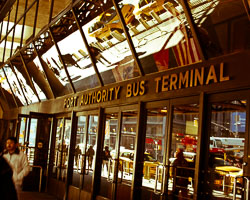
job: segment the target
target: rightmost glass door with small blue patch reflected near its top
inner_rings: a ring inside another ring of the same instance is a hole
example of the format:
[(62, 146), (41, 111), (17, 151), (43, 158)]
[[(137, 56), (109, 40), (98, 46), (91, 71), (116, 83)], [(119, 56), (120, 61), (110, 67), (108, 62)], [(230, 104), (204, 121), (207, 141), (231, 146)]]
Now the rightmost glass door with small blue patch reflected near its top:
[[(244, 95), (212, 96), (209, 103), (207, 194), (212, 199), (249, 199), (249, 109)], [(247, 170), (248, 169), (248, 170)], [(246, 197), (248, 196), (248, 197)]]

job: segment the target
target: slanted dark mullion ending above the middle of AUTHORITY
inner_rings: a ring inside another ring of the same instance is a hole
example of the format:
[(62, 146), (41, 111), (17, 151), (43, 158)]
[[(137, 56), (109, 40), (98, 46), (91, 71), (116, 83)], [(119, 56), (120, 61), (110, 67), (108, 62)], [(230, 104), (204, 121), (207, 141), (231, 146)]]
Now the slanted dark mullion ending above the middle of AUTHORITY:
[(93, 67), (94, 67), (95, 73), (96, 73), (96, 75), (97, 75), (98, 81), (99, 81), (99, 83), (100, 83), (101, 86), (104, 86), (102, 77), (101, 77), (100, 72), (99, 72), (99, 70), (98, 70), (98, 68), (97, 68), (97, 66), (96, 66), (96, 62), (95, 62), (96, 59), (94, 58), (93, 54), (92, 54), (91, 51), (90, 51), (90, 48), (89, 48), (89, 45), (88, 45), (87, 38), (85, 37), (85, 34), (84, 34), (83, 30), (82, 30), (82, 27), (80, 26), (80, 22), (79, 22), (79, 20), (78, 20), (78, 18), (77, 18), (77, 16), (76, 16), (75, 10), (74, 10), (73, 8), (72, 8), (72, 13), (73, 13), (73, 16), (74, 16), (74, 18), (75, 18), (75, 21), (76, 21), (78, 30), (80, 31), (80, 34), (81, 34), (81, 36), (82, 36), (83, 42), (84, 42), (84, 44), (85, 44), (85, 47), (86, 47), (86, 49), (87, 49), (87, 51), (88, 51), (88, 54), (89, 54), (91, 63), (92, 63), (92, 65), (93, 65)]

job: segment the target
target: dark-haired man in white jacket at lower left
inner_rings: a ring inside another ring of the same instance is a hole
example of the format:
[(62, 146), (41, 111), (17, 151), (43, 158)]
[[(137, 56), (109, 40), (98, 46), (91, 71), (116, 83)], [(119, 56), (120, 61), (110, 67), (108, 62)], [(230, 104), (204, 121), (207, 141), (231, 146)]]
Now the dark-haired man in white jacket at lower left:
[(17, 139), (9, 137), (3, 157), (13, 170), (13, 182), (17, 193), (22, 190), (23, 178), (29, 174), (30, 167), (27, 156), (18, 149)]

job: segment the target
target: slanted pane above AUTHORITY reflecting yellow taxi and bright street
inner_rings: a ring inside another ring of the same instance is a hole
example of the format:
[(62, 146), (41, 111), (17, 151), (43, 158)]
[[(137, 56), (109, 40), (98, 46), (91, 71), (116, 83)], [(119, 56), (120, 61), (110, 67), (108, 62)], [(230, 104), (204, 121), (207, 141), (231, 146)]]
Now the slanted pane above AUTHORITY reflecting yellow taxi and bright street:
[[(127, 16), (126, 23), (133, 20), (134, 6), (119, 6)], [(139, 76), (114, 7), (103, 10), (103, 13), (83, 26), (83, 31), (105, 84)]]

